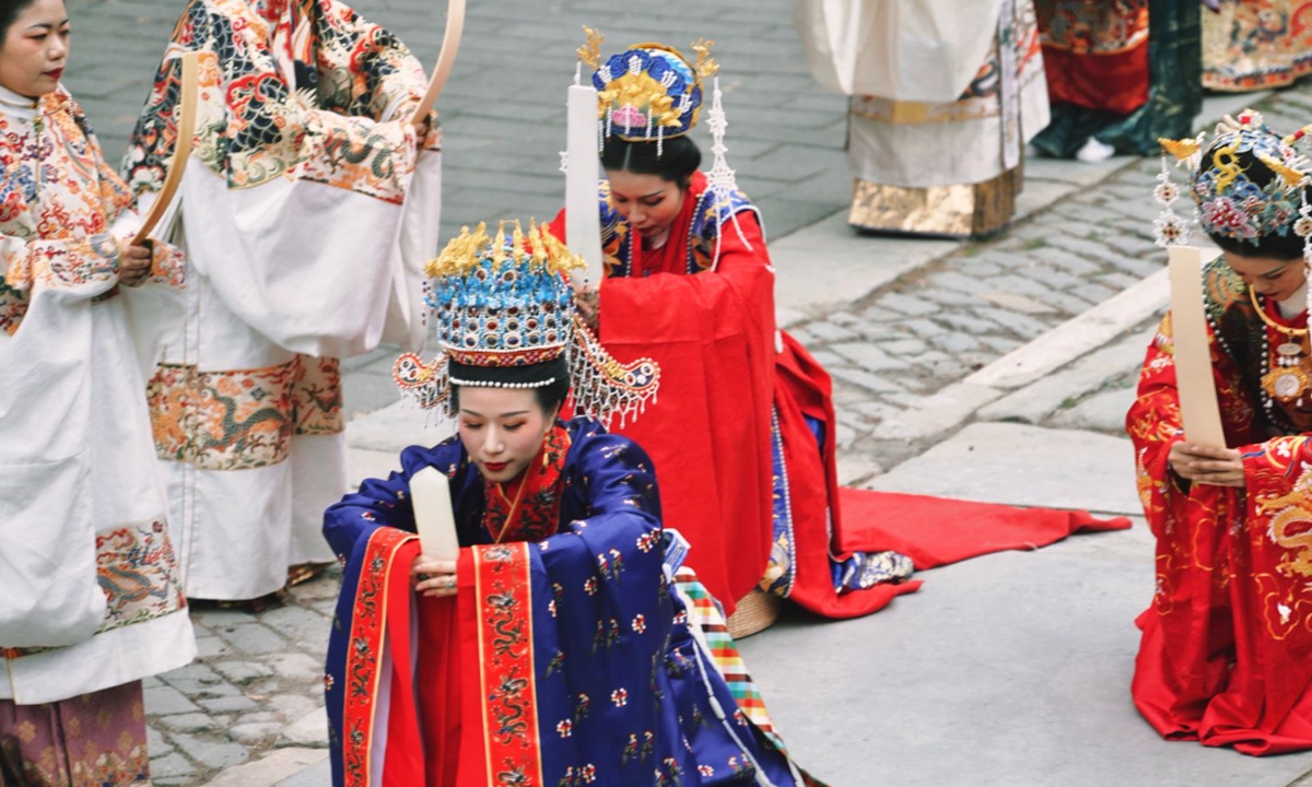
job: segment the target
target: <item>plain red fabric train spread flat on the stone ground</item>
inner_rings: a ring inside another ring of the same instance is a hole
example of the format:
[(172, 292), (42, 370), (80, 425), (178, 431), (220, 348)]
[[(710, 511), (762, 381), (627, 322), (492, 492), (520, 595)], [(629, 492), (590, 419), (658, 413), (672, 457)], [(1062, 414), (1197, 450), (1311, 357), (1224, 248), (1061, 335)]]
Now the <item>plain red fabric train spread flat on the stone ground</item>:
[(925, 494), (840, 489), (844, 550), (895, 550), (917, 571), (1006, 550), (1035, 550), (1075, 533), (1126, 530), (1130, 519), (1088, 512), (1022, 509)]

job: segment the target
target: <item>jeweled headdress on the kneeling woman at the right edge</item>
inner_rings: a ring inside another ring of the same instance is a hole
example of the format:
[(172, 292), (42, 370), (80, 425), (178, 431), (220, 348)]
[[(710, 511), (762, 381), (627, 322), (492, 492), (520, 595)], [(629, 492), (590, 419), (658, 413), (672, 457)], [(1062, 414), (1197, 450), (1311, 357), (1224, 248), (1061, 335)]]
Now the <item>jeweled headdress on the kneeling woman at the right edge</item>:
[[(1185, 243), (1193, 223), (1172, 209), (1181, 189), (1170, 178), (1170, 155), (1189, 173), (1197, 220), (1204, 232), (1254, 247), (1263, 237), (1294, 232), (1304, 239), (1304, 257), (1312, 261), (1312, 207), (1307, 202), (1312, 164), (1295, 150), (1304, 131), (1281, 138), (1266, 126), (1261, 114), (1245, 110), (1237, 119), (1227, 115), (1207, 146), (1204, 134), (1194, 139), (1160, 140), (1165, 153), (1153, 192), (1162, 205), (1161, 215), (1153, 222), (1157, 245)], [(1244, 167), (1241, 153), (1256, 164)], [(1269, 171), (1266, 177), (1254, 177), (1258, 173), (1250, 168), (1257, 165)]]

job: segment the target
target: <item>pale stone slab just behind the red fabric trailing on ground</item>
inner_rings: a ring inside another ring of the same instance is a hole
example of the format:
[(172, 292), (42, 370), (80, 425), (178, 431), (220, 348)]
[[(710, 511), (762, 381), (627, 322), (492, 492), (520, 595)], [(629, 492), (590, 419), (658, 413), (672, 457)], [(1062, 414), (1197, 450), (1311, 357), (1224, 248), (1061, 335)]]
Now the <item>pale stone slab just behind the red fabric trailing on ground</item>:
[(1128, 439), (1023, 424), (971, 424), (871, 485), (1022, 506), (1143, 510)]

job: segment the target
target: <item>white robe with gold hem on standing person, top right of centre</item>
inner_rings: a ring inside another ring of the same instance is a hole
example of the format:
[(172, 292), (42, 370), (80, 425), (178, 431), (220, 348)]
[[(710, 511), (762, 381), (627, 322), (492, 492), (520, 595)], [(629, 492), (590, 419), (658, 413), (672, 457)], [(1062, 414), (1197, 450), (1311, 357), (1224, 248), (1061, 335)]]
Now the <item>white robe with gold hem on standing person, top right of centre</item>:
[(796, 25), (816, 81), (851, 97), (853, 227), (1010, 223), (1025, 144), (1048, 125), (1033, 0), (799, 0)]

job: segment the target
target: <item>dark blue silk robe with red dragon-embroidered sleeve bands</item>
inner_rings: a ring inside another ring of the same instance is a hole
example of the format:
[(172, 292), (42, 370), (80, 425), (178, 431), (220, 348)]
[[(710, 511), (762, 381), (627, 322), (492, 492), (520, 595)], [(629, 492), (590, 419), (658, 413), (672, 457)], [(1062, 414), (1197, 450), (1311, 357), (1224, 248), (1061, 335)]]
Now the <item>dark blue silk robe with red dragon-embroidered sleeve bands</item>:
[[(589, 418), (564, 432), (559, 496), (544, 506), (558, 509), (555, 535), (542, 540), (492, 544), (484, 481), (458, 438), (407, 449), (400, 472), (325, 513), (346, 565), (325, 689), (333, 783), (804, 783), (739, 710), (689, 601), (672, 593), (647, 454)], [(471, 547), (458, 601), (411, 589), (408, 483), (429, 466), (451, 479)], [(446, 616), (425, 616), (428, 602)], [(442, 674), (425, 678), (434, 660)], [(459, 711), (432, 707), (443, 703)]]

